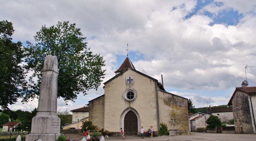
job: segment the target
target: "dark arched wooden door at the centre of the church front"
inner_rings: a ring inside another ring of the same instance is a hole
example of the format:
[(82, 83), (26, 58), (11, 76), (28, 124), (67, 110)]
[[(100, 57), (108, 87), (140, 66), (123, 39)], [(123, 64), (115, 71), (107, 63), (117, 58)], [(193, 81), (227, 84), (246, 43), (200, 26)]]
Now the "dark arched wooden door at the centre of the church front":
[(133, 111), (129, 111), (124, 117), (124, 133), (126, 135), (137, 135), (138, 119)]

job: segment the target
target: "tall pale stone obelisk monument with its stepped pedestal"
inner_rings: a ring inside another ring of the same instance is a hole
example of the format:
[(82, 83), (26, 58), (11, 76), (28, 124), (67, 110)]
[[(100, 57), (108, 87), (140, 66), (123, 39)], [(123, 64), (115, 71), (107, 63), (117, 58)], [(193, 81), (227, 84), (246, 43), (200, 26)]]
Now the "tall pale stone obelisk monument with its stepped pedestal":
[(41, 138), (53, 141), (60, 136), (60, 118), (57, 115), (58, 60), (48, 55), (43, 64), (38, 110), (32, 119), (31, 134), (26, 141)]

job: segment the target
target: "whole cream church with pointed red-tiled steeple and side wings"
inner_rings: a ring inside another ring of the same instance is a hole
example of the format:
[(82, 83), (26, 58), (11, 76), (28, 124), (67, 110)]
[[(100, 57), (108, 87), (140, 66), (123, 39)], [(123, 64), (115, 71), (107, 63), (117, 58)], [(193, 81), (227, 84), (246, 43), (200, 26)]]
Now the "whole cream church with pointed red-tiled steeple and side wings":
[(164, 90), (156, 79), (136, 71), (130, 59), (124, 60), (116, 75), (104, 83), (105, 94), (89, 101), (89, 120), (93, 125), (119, 135), (138, 135), (141, 126), (147, 131), (160, 124), (189, 134), (187, 98)]

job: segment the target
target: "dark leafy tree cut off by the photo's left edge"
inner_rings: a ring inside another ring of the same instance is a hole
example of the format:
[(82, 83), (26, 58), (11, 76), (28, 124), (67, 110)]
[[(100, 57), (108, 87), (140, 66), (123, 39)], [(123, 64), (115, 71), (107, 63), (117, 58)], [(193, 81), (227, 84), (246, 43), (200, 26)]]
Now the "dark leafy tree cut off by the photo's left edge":
[(27, 81), (21, 42), (12, 42), (12, 22), (0, 21), (0, 108), (9, 109), (25, 94)]

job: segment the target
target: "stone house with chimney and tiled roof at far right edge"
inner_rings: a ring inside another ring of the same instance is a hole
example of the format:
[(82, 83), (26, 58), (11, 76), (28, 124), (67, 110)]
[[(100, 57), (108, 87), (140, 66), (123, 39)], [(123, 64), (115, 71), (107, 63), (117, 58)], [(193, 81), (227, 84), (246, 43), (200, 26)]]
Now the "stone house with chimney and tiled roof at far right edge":
[(233, 107), (236, 133), (256, 134), (256, 87), (237, 87), (228, 105)]

